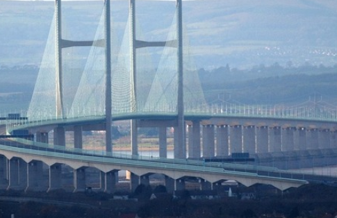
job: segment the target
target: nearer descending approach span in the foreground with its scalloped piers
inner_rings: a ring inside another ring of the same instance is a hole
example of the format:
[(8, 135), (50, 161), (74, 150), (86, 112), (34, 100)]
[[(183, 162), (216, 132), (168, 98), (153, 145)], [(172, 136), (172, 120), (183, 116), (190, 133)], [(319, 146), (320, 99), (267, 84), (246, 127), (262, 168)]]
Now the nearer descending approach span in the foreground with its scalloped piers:
[[(89, 167), (99, 170), (99, 188), (105, 192), (115, 191), (117, 172), (120, 170), (131, 172), (131, 190), (135, 190), (139, 184), (149, 185), (151, 174), (164, 176), (164, 185), (169, 192), (183, 190), (188, 178), (199, 180), (202, 190), (220, 188), (222, 182), (227, 180), (238, 181), (246, 186), (256, 183), (268, 184), (280, 190), (307, 183), (302, 179), (302, 174), (290, 175), (273, 167), (208, 163), (188, 159), (114, 156), (104, 151), (99, 154), (100, 152), (67, 149), (28, 140), (1, 141), (0, 148), (1, 187), (15, 190), (47, 191), (63, 188), (62, 165), (74, 169), (74, 192), (84, 191), (88, 186), (85, 182), (85, 169)], [(258, 171), (264, 174), (258, 174)]]

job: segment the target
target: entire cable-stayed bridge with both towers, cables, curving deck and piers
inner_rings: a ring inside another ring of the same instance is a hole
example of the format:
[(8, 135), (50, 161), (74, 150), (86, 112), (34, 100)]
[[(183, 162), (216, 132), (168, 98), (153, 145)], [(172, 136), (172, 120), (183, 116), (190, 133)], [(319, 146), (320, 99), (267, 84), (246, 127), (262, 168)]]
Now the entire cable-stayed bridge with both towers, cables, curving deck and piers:
[[(310, 156), (311, 151), (317, 153), (317, 150), (320, 154), (335, 153), (337, 112), (334, 110), (208, 105), (197, 71), (185, 61), (188, 51), (183, 47), (186, 40), (183, 40), (181, 0), (176, 0), (174, 22), (165, 42), (138, 39), (135, 0), (130, 0), (127, 34), (120, 47), (112, 44), (110, 37), (109, 0), (104, 1), (104, 16), (95, 39), (88, 42), (63, 39), (61, 8), (61, 1), (56, 0), (51, 25), (55, 31), (51, 31), (46, 46), (48, 57), (51, 53), (55, 56), (53, 60), (42, 61), (31, 106), (25, 115), (28, 120), (6, 123), (7, 133), (26, 130), (35, 135), (35, 141), (0, 141), (1, 187), (57, 189), (63, 184), (61, 177), (68, 166), (72, 169), (67, 175), (71, 174), (74, 191), (85, 190), (87, 169), (93, 168), (99, 171), (97, 187), (106, 192), (114, 191), (117, 172), (121, 170), (131, 172), (131, 190), (140, 183), (148, 185), (151, 174), (163, 175), (171, 192), (183, 189), (188, 178), (197, 179), (201, 189), (214, 189), (223, 181), (235, 180), (243, 185), (263, 183), (286, 190), (315, 179), (255, 163), (213, 163), (203, 159), (249, 153), (259, 160), (266, 156), (264, 160), (269, 161), (265, 162), (270, 162), (270, 158), (277, 159), (280, 154), (287, 158), (301, 152)], [(67, 87), (70, 83), (65, 83), (64, 76), (71, 72), (63, 70), (62, 49), (78, 46), (93, 48), (87, 63), (93, 68), (85, 67), (78, 86)], [(149, 72), (141, 72), (141, 67), (136, 65), (136, 58), (142, 57), (137, 56), (140, 48), (144, 47), (164, 50), (151, 78), (142, 75)], [(120, 53), (116, 55), (114, 49), (120, 49)], [(131, 156), (115, 156), (112, 124), (126, 119), (131, 121)], [(139, 156), (138, 130), (142, 127), (158, 128), (158, 158)], [(169, 129), (174, 129), (173, 159), (167, 159)], [(83, 131), (105, 131), (105, 150), (98, 154), (83, 149)], [(72, 142), (67, 142), (67, 132), (73, 133)], [(330, 159), (330, 164), (336, 160)]]

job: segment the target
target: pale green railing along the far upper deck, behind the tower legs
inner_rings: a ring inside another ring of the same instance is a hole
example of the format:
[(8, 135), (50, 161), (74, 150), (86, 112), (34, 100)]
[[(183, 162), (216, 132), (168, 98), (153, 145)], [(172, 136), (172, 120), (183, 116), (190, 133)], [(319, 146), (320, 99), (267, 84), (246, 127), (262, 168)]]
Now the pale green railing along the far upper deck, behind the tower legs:
[[(130, 106), (125, 106), (125, 110), (113, 110), (113, 119), (118, 117), (135, 117), (137, 115), (176, 115), (175, 103), (164, 103), (163, 105), (149, 106), (138, 103), (132, 111)], [(211, 103), (204, 102), (185, 102), (185, 115), (200, 115), (211, 117), (264, 117), (277, 119), (306, 119), (313, 121), (337, 121), (337, 107), (334, 106), (265, 106), (265, 105), (246, 105), (241, 103)], [(36, 112), (37, 117), (28, 117), (24, 120), (6, 121), (7, 129), (10, 132), (16, 128), (26, 128), (34, 125), (52, 124), (52, 122), (62, 123), (69, 121), (79, 121), (85, 119), (104, 118), (104, 111), (88, 108), (75, 110), (72, 108), (67, 111), (67, 117), (56, 117), (45, 112)], [(25, 110), (19, 110), (22, 116), (27, 116)], [(2, 112), (2, 114), (4, 114)], [(6, 114), (6, 113), (5, 113)]]

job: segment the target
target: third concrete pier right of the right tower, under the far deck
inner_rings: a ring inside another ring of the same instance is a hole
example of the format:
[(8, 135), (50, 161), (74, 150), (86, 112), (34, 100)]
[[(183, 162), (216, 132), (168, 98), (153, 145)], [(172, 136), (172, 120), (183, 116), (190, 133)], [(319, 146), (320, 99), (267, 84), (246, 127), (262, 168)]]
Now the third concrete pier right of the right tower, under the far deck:
[(228, 126), (221, 125), (217, 126), (217, 144), (216, 152), (218, 157), (229, 155), (229, 137), (228, 137)]

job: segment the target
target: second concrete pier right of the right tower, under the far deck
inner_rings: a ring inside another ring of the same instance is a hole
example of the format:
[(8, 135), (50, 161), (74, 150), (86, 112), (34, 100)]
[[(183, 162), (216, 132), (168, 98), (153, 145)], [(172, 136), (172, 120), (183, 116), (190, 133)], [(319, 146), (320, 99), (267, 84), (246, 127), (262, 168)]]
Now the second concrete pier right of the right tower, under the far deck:
[(214, 151), (214, 126), (203, 126), (202, 131), (202, 156), (204, 158), (213, 158), (215, 156)]

